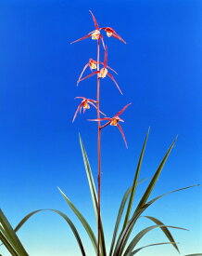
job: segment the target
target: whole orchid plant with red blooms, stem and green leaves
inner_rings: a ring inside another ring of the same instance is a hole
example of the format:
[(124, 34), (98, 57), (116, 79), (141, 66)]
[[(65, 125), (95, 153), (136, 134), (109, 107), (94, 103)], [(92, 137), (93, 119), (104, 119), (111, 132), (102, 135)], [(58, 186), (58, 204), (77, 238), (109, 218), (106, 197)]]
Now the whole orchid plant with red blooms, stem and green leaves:
[[(122, 42), (124, 44), (126, 42), (111, 27), (99, 27), (98, 22), (96, 21), (95, 16), (91, 10), (90, 10), (90, 13), (91, 13), (92, 19), (95, 24), (95, 30), (90, 32), (89, 34), (83, 36), (82, 38), (75, 40), (74, 42), (72, 42), (72, 44), (76, 43), (76, 42), (80, 42), (83, 39), (87, 39), (87, 38), (91, 38), (91, 39), (95, 40), (95, 42), (96, 42), (96, 47), (97, 47), (96, 61), (94, 59), (89, 59), (88, 63), (85, 64), (85, 66), (82, 70), (82, 74), (80, 74), (79, 79), (77, 81), (77, 86), (78, 86), (82, 80), (87, 79), (93, 75), (96, 75), (96, 100), (88, 99), (88, 98), (81, 97), (81, 96), (76, 97), (75, 99), (79, 99), (82, 102), (77, 106), (76, 112), (73, 115), (72, 122), (74, 122), (78, 113), (82, 113), (82, 111), (83, 111), (83, 114), (84, 114), (86, 110), (90, 109), (90, 106), (93, 106), (95, 108), (96, 118), (89, 119), (89, 121), (97, 122), (97, 189), (95, 186), (94, 175), (92, 173), (90, 163), (88, 160), (88, 156), (86, 154), (81, 136), (80, 136), (80, 144), (81, 144), (81, 148), (82, 148), (82, 157), (83, 157), (84, 167), (86, 170), (86, 175), (87, 175), (90, 192), (91, 192), (91, 196), (92, 196), (92, 201), (93, 201), (93, 205), (94, 205), (94, 209), (95, 209), (95, 218), (96, 218), (96, 222), (97, 222), (97, 238), (95, 236), (95, 232), (91, 228), (90, 223), (86, 221), (86, 219), (83, 217), (83, 215), (79, 211), (79, 209), (76, 208), (76, 206), (69, 200), (69, 197), (67, 195), (65, 195), (61, 189), (59, 189), (59, 192), (61, 193), (61, 195), (63, 195), (63, 197), (69, 204), (70, 209), (73, 210), (73, 212), (76, 214), (76, 216), (82, 223), (82, 226), (84, 227), (84, 229), (85, 229), (87, 235), (89, 236), (89, 239), (91, 240), (92, 245), (95, 249), (95, 255), (97, 255), (97, 256), (107, 256), (107, 255), (108, 256), (133, 256), (133, 255), (137, 254), (141, 249), (145, 249), (145, 248), (151, 247), (151, 246), (167, 245), (167, 244), (172, 245), (174, 249), (176, 249), (178, 252), (180, 252), (177, 243), (175, 242), (173, 236), (170, 234), (169, 228), (185, 230), (184, 228), (165, 225), (163, 222), (159, 221), (155, 217), (142, 215), (144, 213), (145, 209), (148, 209), (149, 206), (154, 204), (161, 197), (184, 190), (184, 189), (187, 189), (187, 188), (197, 186), (197, 185), (194, 185), (194, 186), (188, 186), (188, 187), (176, 189), (169, 193), (165, 193), (163, 195), (158, 195), (157, 197), (155, 197), (151, 200), (148, 200), (149, 196), (151, 195), (151, 193), (155, 187), (156, 182), (158, 181), (158, 177), (167, 161), (167, 158), (170, 155), (170, 152), (171, 152), (177, 138), (171, 143), (169, 150), (167, 151), (167, 153), (164, 155), (162, 161), (160, 162), (158, 169), (156, 170), (155, 174), (153, 175), (151, 181), (149, 182), (149, 184), (145, 190), (145, 193), (142, 195), (139, 203), (137, 204), (136, 209), (133, 210), (133, 199), (134, 199), (134, 195), (137, 190), (138, 184), (141, 182), (144, 182), (144, 181), (139, 181), (139, 174), (140, 174), (141, 165), (142, 165), (144, 154), (145, 154), (145, 146), (146, 146), (146, 142), (147, 142), (148, 135), (149, 135), (149, 129), (145, 136), (145, 141), (143, 143), (143, 147), (142, 147), (142, 150), (141, 150), (141, 153), (139, 156), (139, 160), (138, 160), (136, 171), (135, 171), (135, 174), (133, 177), (132, 185), (130, 188), (128, 188), (126, 190), (126, 192), (123, 195), (122, 200), (120, 202), (120, 209), (118, 211), (117, 220), (115, 222), (115, 227), (114, 227), (114, 232), (113, 232), (113, 236), (111, 239), (110, 249), (107, 252), (104, 226), (103, 226), (103, 222), (102, 222), (102, 218), (101, 218), (101, 147), (100, 147), (101, 132), (102, 132), (102, 129), (106, 128), (108, 125), (115, 126), (115, 127), (119, 128), (122, 139), (123, 139), (126, 147), (128, 147), (125, 134), (123, 132), (123, 129), (120, 126), (120, 122), (124, 122), (120, 118), (120, 115), (122, 115), (124, 113), (124, 111), (131, 105), (131, 103), (128, 103), (127, 105), (125, 105), (116, 115), (114, 115), (112, 117), (107, 117), (106, 114), (104, 114), (100, 110), (100, 86), (101, 86), (102, 78), (105, 78), (106, 76), (108, 76), (115, 83), (116, 87), (119, 89), (120, 93), (122, 94), (120, 86), (116, 82), (114, 76), (108, 72), (108, 70), (110, 70), (110, 71), (114, 72), (115, 74), (117, 74), (112, 68), (110, 68), (107, 65), (107, 46), (104, 41), (104, 35), (101, 34), (101, 32), (105, 31), (108, 37), (114, 37), (114, 38), (120, 40), (120, 42)], [(101, 42), (102, 42), (102, 45), (101, 45)], [(105, 52), (103, 62), (100, 61), (100, 52), (101, 52), (100, 47), (101, 46), (104, 47), (104, 52)], [(102, 66), (102, 67), (100, 68), (100, 66)], [(95, 70), (95, 72), (92, 72), (91, 74), (88, 74), (85, 77), (82, 77), (82, 75), (84, 74), (84, 72), (86, 71), (86, 69), (88, 67), (90, 68), (91, 71)], [(106, 117), (101, 117), (101, 115), (104, 115)], [(105, 122), (105, 123), (101, 124), (101, 122)], [(86, 251), (82, 244), (82, 238), (81, 238), (79, 232), (77, 231), (77, 228), (75, 227), (74, 223), (69, 219), (69, 217), (65, 213), (63, 213), (57, 209), (38, 209), (38, 210), (32, 211), (30, 214), (25, 216), (21, 222), (19, 222), (19, 224), (17, 225), (17, 227), (15, 229), (12, 228), (12, 226), (6, 219), (5, 214), (3, 213), (2, 210), (0, 210), (0, 240), (5, 245), (6, 249), (10, 252), (10, 254), (13, 256), (28, 256), (29, 255), (28, 252), (22, 246), (21, 242), (19, 241), (19, 237), (17, 236), (16, 233), (19, 231), (19, 228), (32, 217), (32, 215), (34, 215), (40, 211), (44, 211), (44, 210), (53, 211), (53, 212), (57, 213), (69, 224), (69, 227), (71, 228), (75, 238), (77, 239), (79, 248), (81, 250), (81, 255), (86, 256), (87, 254), (86, 254)], [(124, 212), (125, 212), (125, 215), (124, 215)], [(130, 240), (131, 234), (133, 231), (133, 227), (134, 227), (135, 223), (141, 217), (144, 217), (144, 218), (150, 220), (151, 222), (154, 222), (154, 225), (146, 227), (145, 229), (140, 231), (136, 236), (134, 236)], [(150, 245), (146, 245), (144, 247), (136, 248), (137, 243), (148, 232), (150, 232), (151, 230), (156, 229), (156, 228), (159, 228), (167, 236), (168, 242), (150, 244)], [(185, 255), (185, 256), (191, 256), (191, 255), (199, 256), (199, 255), (202, 255), (202, 253), (189, 254), (189, 255)], [(89, 255), (87, 255), (87, 256), (89, 256)]]

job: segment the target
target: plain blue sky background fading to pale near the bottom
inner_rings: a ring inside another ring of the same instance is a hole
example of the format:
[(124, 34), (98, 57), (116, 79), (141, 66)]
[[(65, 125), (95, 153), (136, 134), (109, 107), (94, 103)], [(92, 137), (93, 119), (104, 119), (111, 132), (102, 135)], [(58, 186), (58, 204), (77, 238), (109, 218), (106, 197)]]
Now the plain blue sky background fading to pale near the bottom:
[[(95, 228), (94, 211), (78, 140), (81, 132), (96, 178), (95, 110), (71, 120), (79, 100), (95, 99), (95, 77), (76, 88), (82, 67), (95, 58), (91, 39), (69, 43), (94, 30), (92, 9), (100, 26), (113, 27), (126, 41), (106, 38), (108, 64), (124, 95), (105, 79), (101, 108), (122, 115), (129, 149), (117, 128), (102, 136), (102, 215), (107, 246), (120, 199), (131, 185), (144, 141), (151, 127), (136, 200), (143, 194), (158, 163), (179, 138), (151, 197), (201, 183), (201, 61), (200, 0), (135, 1), (0, 1), (0, 206), (15, 226), (35, 209), (59, 209), (73, 218), (88, 256), (94, 251), (59, 186)], [(88, 74), (88, 72), (86, 72)], [(202, 251), (201, 188), (162, 198), (146, 211), (162, 222), (190, 229), (173, 231), (182, 254)], [(140, 220), (136, 232), (152, 224)], [(39, 213), (19, 231), (31, 256), (80, 255), (71, 231), (54, 213)], [(139, 245), (167, 241), (152, 231)], [(1, 248), (4, 256), (7, 252)], [(145, 249), (140, 256), (177, 255), (171, 246)]]

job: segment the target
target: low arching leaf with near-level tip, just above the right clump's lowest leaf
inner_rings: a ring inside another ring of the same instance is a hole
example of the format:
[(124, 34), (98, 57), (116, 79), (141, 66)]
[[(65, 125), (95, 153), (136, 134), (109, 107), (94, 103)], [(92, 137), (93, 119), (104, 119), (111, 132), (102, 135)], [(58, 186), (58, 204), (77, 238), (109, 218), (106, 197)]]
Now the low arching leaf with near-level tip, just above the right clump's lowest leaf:
[(126, 249), (125, 253), (123, 254), (123, 256), (129, 256), (131, 255), (133, 248), (137, 245), (137, 243), (143, 238), (143, 236), (145, 236), (149, 231), (155, 229), (155, 228), (161, 228), (161, 227), (170, 227), (170, 228), (176, 228), (176, 229), (182, 229), (182, 230), (186, 230), (184, 228), (181, 227), (176, 227), (176, 226), (165, 226), (165, 225), (153, 225), (153, 226), (149, 226), (146, 227), (145, 229), (143, 229), (142, 231), (140, 231), (136, 236), (134, 236), (132, 242), (129, 244), (128, 248)]

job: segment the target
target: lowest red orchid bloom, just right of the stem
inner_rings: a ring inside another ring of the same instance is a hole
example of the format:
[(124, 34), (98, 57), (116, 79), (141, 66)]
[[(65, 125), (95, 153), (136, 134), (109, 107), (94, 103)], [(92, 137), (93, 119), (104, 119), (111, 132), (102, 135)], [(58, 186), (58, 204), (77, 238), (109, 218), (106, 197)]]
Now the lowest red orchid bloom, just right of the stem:
[(97, 121), (97, 122), (100, 122), (100, 121), (107, 121), (107, 123), (102, 126), (101, 128), (105, 128), (107, 127), (108, 125), (109, 126), (114, 126), (114, 127), (118, 127), (120, 129), (120, 133), (122, 135), (122, 139), (123, 141), (125, 142), (125, 145), (126, 145), (126, 148), (128, 148), (128, 145), (127, 145), (127, 141), (126, 141), (126, 138), (125, 138), (125, 135), (124, 135), (124, 132), (122, 130), (122, 128), (120, 127), (120, 124), (119, 122), (124, 122), (121, 118), (120, 118), (120, 115), (125, 111), (125, 109), (131, 105), (132, 103), (129, 103), (128, 105), (124, 106), (124, 108), (122, 108), (120, 110), (120, 112), (118, 112), (116, 115), (114, 115), (113, 117), (104, 117), (104, 118), (98, 118), (98, 119), (89, 119), (89, 121)]

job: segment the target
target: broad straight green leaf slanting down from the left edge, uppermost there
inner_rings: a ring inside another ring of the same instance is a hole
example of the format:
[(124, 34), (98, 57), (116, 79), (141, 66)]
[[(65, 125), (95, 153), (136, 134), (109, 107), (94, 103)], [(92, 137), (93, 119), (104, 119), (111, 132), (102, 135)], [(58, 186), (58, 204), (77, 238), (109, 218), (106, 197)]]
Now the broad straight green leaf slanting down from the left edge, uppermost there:
[(7, 221), (6, 216), (4, 215), (1, 209), (0, 209), (0, 223), (5, 230), (5, 235), (9, 240), (9, 243), (17, 251), (17, 253), (20, 256), (28, 256), (27, 251), (23, 248), (21, 242), (19, 241), (19, 237), (16, 235), (11, 224)]

